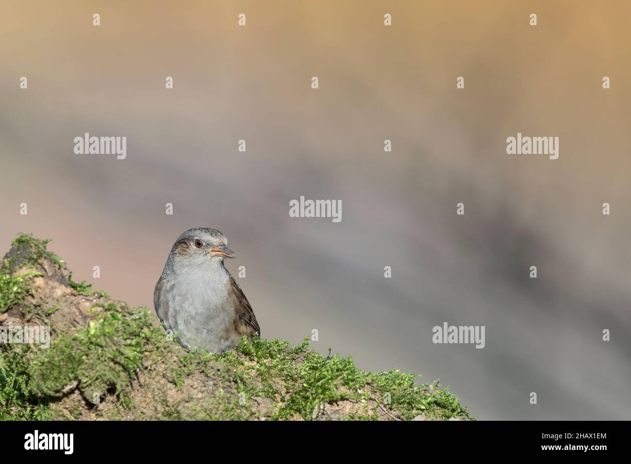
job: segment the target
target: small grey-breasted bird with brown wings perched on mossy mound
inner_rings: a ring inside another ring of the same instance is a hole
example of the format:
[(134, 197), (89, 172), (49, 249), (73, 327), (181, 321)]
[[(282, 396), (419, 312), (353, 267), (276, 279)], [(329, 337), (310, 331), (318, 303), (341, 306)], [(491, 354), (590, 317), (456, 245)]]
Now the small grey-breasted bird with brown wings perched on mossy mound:
[(219, 230), (189, 229), (177, 237), (153, 291), (156, 314), (187, 351), (232, 350), (244, 335), (261, 335), (252, 306), (224, 266), (234, 258)]

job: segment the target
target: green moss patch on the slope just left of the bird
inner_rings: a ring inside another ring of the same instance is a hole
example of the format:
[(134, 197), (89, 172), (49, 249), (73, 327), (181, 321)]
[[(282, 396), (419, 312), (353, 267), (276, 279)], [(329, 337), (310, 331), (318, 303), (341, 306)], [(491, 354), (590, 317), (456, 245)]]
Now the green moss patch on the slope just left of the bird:
[(88, 327), (72, 336), (60, 334), (49, 348), (11, 345), (0, 352), (5, 410), (54, 402), (69, 386), (76, 386), (86, 402), (98, 403), (111, 394), (123, 408), (131, 407), (127, 392), (121, 393), (145, 356), (159, 349), (163, 336), (146, 308), (110, 304), (95, 307), (94, 313)]

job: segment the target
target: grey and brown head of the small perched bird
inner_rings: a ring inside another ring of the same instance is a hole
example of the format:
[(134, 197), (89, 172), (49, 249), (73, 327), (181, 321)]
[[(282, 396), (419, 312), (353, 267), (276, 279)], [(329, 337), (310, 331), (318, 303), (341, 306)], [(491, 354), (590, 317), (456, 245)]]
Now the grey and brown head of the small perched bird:
[(198, 227), (180, 235), (171, 250), (174, 264), (213, 267), (234, 258), (228, 239), (219, 230)]

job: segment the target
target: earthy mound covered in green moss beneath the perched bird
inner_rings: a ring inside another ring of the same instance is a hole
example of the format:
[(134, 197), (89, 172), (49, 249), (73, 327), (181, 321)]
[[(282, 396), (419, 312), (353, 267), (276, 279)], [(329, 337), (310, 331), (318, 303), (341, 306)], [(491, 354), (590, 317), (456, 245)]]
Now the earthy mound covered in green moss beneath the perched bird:
[[(21, 234), (0, 267), (2, 420), (472, 419), (437, 382), (362, 372), (306, 341), (186, 353), (146, 307), (73, 282), (47, 243)], [(48, 343), (23, 343), (29, 326), (49, 327)]]

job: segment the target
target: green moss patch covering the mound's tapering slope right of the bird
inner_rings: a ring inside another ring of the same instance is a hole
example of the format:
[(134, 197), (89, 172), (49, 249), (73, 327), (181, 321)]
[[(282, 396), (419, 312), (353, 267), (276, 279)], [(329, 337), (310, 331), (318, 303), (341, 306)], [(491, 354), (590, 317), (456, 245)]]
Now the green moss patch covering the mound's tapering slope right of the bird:
[[(233, 352), (215, 355), (215, 359), (243, 370), (239, 354), (255, 361), (250, 368), (252, 381), (241, 379), (253, 395), (263, 395), (278, 402), (273, 419), (290, 419), (298, 415), (311, 419), (322, 405), (348, 400), (368, 403), (370, 400), (396, 410), (404, 419), (413, 419), (425, 412), (428, 419), (449, 419), (463, 416), (473, 419), (456, 396), (440, 384), (417, 386), (416, 375), (399, 371), (374, 374), (362, 372), (351, 357), (326, 357), (309, 350), (309, 342), (291, 348), (281, 340), (252, 342), (242, 339)], [(386, 399), (387, 398), (387, 399)], [(376, 419), (376, 411), (353, 415), (349, 419)]]

